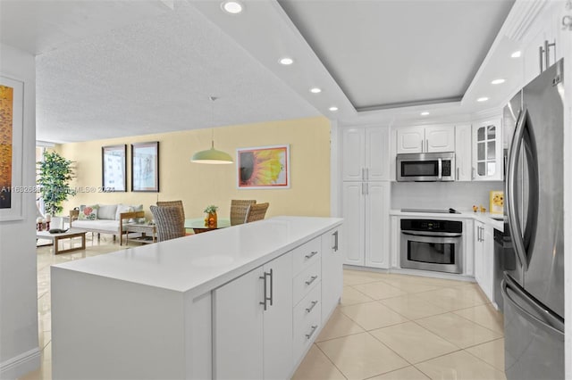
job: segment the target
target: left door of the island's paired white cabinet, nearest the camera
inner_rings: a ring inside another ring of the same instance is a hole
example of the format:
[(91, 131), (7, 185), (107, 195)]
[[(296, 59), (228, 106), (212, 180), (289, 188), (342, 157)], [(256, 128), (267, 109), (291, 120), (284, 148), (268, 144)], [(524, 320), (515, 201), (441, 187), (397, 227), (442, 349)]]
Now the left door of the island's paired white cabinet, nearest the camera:
[(264, 309), (260, 304), (264, 292), (260, 277), (264, 278), (262, 267), (213, 291), (216, 379), (264, 377)]

